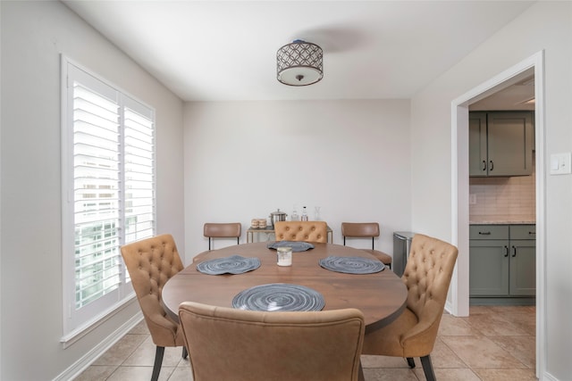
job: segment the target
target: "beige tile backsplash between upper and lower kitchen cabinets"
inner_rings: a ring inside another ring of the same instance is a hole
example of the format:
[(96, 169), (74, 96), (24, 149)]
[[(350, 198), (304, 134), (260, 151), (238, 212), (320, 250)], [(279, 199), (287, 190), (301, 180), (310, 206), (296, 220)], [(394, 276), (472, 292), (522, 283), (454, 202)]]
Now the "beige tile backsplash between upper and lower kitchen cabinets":
[(470, 219), (535, 220), (535, 177), (469, 178)]

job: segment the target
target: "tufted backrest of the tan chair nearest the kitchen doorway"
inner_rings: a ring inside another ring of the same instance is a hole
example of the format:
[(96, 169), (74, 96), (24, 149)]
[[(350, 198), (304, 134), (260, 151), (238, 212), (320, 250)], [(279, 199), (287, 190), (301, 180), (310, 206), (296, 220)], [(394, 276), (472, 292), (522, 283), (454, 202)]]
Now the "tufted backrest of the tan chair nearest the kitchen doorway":
[(427, 342), (437, 336), (457, 255), (457, 247), (430, 236), (416, 234), (411, 242), (401, 279), (408, 287), (408, 309), (418, 319), (416, 331), (425, 330)]

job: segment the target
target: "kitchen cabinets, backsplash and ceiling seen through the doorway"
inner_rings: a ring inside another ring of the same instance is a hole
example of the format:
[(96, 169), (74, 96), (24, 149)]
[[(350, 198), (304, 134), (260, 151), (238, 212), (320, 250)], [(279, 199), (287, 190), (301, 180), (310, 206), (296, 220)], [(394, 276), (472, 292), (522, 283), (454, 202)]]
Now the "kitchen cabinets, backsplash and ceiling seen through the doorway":
[(534, 70), (469, 106), (470, 305), (535, 303)]

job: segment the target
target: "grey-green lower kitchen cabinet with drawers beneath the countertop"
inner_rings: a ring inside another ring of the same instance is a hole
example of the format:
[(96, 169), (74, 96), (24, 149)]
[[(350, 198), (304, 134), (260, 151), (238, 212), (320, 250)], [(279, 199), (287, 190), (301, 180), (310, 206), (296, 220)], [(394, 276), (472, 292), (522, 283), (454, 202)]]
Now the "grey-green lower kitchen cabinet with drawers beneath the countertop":
[(469, 296), (534, 296), (535, 236), (535, 225), (471, 225)]

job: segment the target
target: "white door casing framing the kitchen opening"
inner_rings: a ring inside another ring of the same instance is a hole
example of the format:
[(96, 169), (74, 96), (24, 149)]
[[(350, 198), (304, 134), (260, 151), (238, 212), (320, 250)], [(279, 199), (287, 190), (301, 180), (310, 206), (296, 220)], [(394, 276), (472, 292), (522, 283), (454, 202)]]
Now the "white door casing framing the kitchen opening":
[[(508, 70), (485, 81), (466, 94), (451, 102), (451, 236), (457, 242), (459, 253), (466, 253), (464, 260), (457, 263), (458, 272), (451, 279), (451, 309), (457, 316), (468, 315), (468, 167), (458, 165), (464, 162), (468, 153), (468, 139), (461, 137), (467, 131), (467, 118), (459, 118), (461, 113), (468, 111), (468, 104), (492, 94), (497, 87), (506, 86), (507, 82), (518, 74), (534, 68), (535, 104), (535, 150), (536, 150), (536, 377), (549, 379), (546, 373), (547, 347), (546, 337), (546, 171), (545, 171), (545, 126), (544, 126), (544, 51), (518, 62)], [(460, 256), (459, 256), (460, 257)]]

